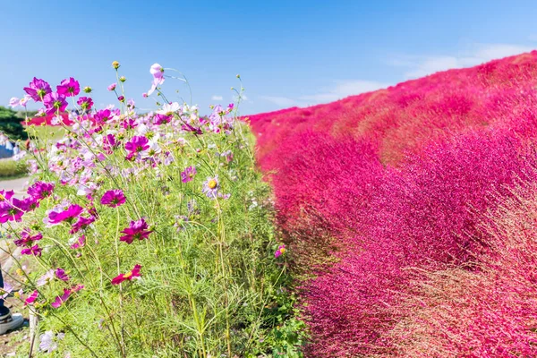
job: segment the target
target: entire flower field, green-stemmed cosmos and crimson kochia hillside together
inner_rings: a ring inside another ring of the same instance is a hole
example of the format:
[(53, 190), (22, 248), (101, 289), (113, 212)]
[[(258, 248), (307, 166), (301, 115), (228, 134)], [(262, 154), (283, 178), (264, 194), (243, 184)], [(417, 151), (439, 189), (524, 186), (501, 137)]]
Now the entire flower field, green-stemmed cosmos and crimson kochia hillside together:
[(249, 117), (242, 82), (202, 115), (159, 64), (141, 114), (113, 68), (114, 106), (12, 99), (41, 107), (0, 192), (19, 354), (537, 355), (537, 51)]

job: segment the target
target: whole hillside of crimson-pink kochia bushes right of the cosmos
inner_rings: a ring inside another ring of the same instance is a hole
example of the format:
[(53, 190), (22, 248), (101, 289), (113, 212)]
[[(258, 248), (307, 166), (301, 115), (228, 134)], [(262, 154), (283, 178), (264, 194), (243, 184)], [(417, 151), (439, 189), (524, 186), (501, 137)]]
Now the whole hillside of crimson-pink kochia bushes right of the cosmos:
[(248, 121), (308, 356), (537, 355), (537, 52)]

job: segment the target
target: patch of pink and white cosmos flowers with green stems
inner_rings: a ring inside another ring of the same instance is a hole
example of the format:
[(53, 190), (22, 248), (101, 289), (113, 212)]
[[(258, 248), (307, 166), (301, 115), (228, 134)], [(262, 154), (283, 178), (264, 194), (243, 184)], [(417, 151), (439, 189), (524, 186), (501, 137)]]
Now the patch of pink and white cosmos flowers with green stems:
[[(200, 115), (166, 99), (174, 82), (155, 64), (145, 97), (166, 104), (139, 115), (120, 67), (113, 106), (93, 107), (73, 78), (55, 88), (34, 78), (12, 99), (36, 102), (61, 128), (27, 121), (17, 155), (30, 167), (27, 194), (0, 192), (8, 251), (22, 257), (3, 297), (38, 317), (18, 354), (300, 356), (285, 245), (240, 101)], [(65, 121), (68, 108), (78, 112)]]

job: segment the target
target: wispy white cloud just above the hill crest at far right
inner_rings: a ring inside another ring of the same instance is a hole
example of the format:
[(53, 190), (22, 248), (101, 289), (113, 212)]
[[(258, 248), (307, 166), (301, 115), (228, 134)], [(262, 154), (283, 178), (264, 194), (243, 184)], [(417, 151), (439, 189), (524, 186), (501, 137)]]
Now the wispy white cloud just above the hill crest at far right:
[(401, 56), (388, 64), (407, 67), (405, 78), (418, 78), (452, 68), (471, 67), (493, 59), (532, 51), (532, 47), (509, 44), (473, 44), (460, 55)]

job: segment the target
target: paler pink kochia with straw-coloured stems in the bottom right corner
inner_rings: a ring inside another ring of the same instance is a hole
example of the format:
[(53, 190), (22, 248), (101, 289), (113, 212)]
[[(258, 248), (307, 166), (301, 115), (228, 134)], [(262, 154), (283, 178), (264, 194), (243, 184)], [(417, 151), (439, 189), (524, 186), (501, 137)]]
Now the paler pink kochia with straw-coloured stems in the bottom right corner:
[(537, 356), (537, 185), (489, 216), (479, 269), (427, 275), (389, 333), (404, 357)]

